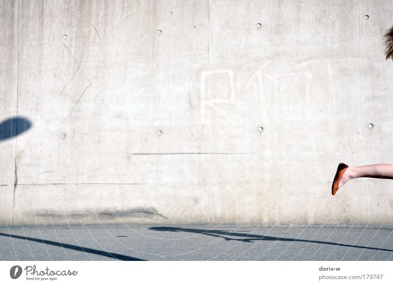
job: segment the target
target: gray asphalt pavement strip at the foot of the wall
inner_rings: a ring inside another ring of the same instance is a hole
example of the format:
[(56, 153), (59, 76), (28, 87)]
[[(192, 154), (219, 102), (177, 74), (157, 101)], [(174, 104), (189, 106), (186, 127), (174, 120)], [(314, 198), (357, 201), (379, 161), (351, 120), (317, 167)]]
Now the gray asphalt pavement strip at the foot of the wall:
[(392, 228), (0, 228), (1, 260), (393, 260)]

